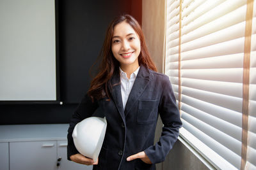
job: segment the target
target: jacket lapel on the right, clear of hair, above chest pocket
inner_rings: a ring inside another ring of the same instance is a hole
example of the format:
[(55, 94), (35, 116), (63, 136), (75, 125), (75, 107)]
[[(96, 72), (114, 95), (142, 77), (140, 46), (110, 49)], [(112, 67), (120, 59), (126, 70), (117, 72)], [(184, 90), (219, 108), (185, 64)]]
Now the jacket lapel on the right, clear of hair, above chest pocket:
[[(136, 79), (134, 81), (134, 85), (132, 86), (132, 90), (129, 94), (126, 106), (125, 106), (125, 117), (131, 110), (134, 103), (138, 100), (138, 98), (141, 96), (142, 92), (145, 90), (145, 88), (148, 85), (149, 81), (149, 71), (146, 67), (140, 66), (140, 70), (136, 76)], [(122, 98), (122, 97), (121, 97)]]

